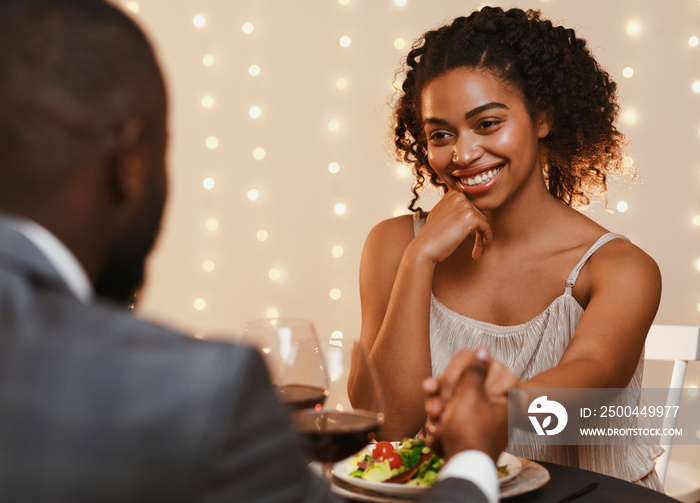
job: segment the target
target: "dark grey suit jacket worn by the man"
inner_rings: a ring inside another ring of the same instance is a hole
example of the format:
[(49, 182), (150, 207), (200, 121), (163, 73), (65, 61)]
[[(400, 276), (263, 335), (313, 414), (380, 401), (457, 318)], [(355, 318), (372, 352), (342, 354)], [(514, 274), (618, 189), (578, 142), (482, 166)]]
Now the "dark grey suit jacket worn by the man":
[(82, 304), (0, 218), (0, 501), (334, 501), (305, 465), (256, 351)]

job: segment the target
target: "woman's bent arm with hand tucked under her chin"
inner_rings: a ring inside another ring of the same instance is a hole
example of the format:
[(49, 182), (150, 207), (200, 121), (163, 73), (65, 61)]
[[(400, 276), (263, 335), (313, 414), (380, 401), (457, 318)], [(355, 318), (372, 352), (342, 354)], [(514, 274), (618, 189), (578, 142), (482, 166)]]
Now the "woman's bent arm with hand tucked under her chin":
[[(360, 342), (384, 389), (384, 438), (413, 436), (425, 421), (421, 383), (431, 375), (430, 294), (435, 265), (475, 231), (484, 236), (476, 239), (478, 258), (491, 241), (488, 221), (464, 194), (448, 192), (415, 238), (410, 216), (382, 222), (367, 237), (360, 264)], [(362, 390), (352, 372), (348, 394), (351, 402), (357, 402)]]

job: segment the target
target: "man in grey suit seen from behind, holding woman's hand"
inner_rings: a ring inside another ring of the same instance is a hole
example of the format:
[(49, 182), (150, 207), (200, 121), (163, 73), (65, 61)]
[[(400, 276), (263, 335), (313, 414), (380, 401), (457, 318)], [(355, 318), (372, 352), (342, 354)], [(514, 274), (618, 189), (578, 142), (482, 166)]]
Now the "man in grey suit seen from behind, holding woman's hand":
[[(0, 500), (334, 501), (257, 352), (126, 309), (166, 198), (166, 118), (153, 50), (117, 8), (0, 2)], [(488, 362), (465, 362), (441, 431), (493, 458), (505, 440), (450, 429), (485, 402)], [(438, 491), (493, 501), (481, 456), (484, 489)]]

